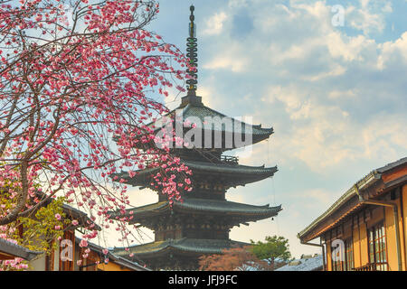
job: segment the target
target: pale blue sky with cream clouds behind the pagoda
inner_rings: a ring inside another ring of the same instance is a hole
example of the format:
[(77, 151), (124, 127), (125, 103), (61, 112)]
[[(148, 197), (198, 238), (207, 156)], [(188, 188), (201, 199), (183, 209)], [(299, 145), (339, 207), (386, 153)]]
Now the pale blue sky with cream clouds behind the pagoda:
[[(240, 163), (279, 172), (226, 198), (283, 210), (230, 237), (279, 235), (293, 256), (321, 253), (298, 232), (365, 174), (407, 155), (407, 1), (164, 0), (148, 29), (185, 51), (191, 4), (204, 105), (275, 131)], [(157, 200), (130, 194), (134, 205)]]

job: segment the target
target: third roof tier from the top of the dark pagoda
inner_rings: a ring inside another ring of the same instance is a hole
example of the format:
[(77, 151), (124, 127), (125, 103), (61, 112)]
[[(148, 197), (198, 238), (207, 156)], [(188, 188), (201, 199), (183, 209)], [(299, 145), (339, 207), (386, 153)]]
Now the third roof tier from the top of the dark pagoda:
[[(264, 206), (253, 206), (228, 200), (195, 198), (183, 198), (182, 202), (175, 201), (172, 209), (175, 212), (188, 212), (191, 210), (194, 211), (194, 213), (202, 214), (211, 213), (220, 214), (222, 216), (240, 216), (246, 219), (246, 221), (274, 217), (280, 210), (282, 210), (281, 205), (276, 207), (270, 207), (269, 204)], [(147, 206), (128, 209), (126, 210), (125, 215), (122, 215), (119, 212), (113, 212), (110, 214), (110, 219), (133, 216), (133, 219), (130, 221), (130, 224), (132, 224), (145, 218), (162, 215), (170, 210), (171, 207), (169, 201), (160, 201)]]

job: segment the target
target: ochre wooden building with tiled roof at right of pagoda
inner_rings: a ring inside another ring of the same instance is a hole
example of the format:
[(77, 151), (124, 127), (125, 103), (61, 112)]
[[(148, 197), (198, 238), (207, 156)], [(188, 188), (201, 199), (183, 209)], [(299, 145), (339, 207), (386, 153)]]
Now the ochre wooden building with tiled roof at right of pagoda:
[(406, 214), (407, 157), (364, 176), (298, 238), (322, 247), (328, 271), (405, 271)]

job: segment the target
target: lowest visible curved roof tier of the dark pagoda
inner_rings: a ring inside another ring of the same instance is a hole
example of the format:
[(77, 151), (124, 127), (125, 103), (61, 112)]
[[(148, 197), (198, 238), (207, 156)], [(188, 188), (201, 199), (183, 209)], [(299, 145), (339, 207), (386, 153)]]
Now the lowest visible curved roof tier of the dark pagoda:
[(202, 254), (221, 254), (222, 250), (231, 247), (248, 246), (250, 244), (224, 240), (224, 239), (197, 239), (197, 238), (180, 238), (166, 239), (165, 241), (155, 241), (143, 245), (129, 247), (126, 251), (124, 247), (115, 247), (113, 252), (118, 256), (129, 257), (133, 253), (136, 256), (157, 256), (158, 253), (168, 253), (177, 251), (179, 253)]

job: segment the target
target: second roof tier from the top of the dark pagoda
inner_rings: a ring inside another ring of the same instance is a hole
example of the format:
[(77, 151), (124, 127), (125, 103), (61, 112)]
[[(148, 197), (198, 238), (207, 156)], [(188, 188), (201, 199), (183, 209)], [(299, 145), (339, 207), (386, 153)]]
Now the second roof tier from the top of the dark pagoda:
[[(200, 175), (222, 173), (222, 176), (225, 177), (232, 176), (237, 180), (237, 184), (257, 182), (274, 175), (274, 173), (278, 171), (277, 166), (248, 166), (226, 162), (214, 163), (186, 160), (182, 160), (182, 163), (185, 163), (185, 165), (191, 169), (193, 173), (199, 172)], [(151, 182), (152, 176), (158, 172), (159, 169), (160, 168), (155, 167), (138, 170), (133, 178), (128, 175), (128, 172), (119, 172), (114, 176), (118, 176), (119, 178), (126, 180), (126, 182), (132, 184), (133, 186), (146, 186)]]

